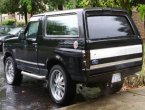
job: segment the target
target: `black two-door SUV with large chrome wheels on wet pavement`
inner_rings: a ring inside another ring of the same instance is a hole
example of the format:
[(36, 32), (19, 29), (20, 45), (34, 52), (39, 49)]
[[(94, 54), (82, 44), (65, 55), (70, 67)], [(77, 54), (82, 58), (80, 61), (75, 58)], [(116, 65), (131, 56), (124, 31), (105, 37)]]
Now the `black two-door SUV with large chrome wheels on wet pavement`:
[(8, 84), (23, 75), (47, 81), (57, 104), (70, 103), (76, 84), (115, 93), (142, 67), (142, 40), (120, 9), (75, 9), (34, 15), (18, 38), (4, 43)]

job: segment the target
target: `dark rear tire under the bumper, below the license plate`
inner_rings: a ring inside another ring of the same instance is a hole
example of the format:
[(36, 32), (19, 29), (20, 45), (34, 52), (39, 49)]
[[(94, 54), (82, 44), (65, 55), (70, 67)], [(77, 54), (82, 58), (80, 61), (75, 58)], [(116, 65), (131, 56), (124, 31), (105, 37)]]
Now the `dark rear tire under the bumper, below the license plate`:
[(103, 83), (101, 84), (100, 88), (101, 88), (101, 95), (105, 95), (108, 96), (110, 94), (114, 94), (118, 91), (121, 90), (122, 86), (123, 86), (123, 82), (117, 82), (117, 83)]

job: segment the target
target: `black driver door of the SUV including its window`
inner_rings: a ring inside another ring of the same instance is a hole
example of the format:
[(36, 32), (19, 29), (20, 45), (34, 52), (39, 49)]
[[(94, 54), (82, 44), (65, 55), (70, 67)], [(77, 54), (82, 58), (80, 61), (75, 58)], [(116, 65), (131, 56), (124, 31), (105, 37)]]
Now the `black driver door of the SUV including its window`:
[(37, 36), (39, 30), (39, 18), (31, 18), (34, 20), (30, 20), (24, 33), (26, 40), (21, 41), (21, 48), (17, 50), (17, 53), (19, 53), (19, 58), (17, 61), (21, 63), (22, 70), (36, 74), (39, 73), (39, 68), (37, 65)]

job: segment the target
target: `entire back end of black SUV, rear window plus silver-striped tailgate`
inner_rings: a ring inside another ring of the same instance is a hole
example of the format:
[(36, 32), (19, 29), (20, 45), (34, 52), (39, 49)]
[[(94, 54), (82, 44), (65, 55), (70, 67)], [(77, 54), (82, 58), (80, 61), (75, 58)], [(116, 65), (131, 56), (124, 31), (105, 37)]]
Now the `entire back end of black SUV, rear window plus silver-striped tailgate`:
[(142, 40), (127, 13), (86, 12), (90, 75), (142, 65)]

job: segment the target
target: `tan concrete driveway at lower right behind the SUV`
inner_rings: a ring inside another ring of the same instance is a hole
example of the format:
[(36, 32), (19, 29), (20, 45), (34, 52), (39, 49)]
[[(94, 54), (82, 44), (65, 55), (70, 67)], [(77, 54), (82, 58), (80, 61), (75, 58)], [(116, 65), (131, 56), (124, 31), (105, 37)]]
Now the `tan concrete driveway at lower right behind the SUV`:
[(70, 105), (59, 110), (145, 110), (145, 87)]

